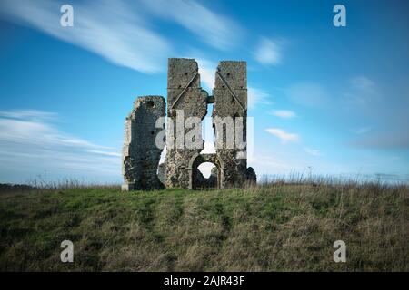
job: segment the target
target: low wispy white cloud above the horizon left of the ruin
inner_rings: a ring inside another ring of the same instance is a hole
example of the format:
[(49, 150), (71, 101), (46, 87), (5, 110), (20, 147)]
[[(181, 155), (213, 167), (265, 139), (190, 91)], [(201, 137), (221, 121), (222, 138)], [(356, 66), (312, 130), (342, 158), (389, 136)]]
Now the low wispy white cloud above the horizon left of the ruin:
[(47, 111), (1, 111), (0, 171), (7, 179), (2, 181), (30, 179), (45, 171), (58, 172), (60, 177), (119, 178), (119, 150), (59, 130), (53, 123), (56, 117)]

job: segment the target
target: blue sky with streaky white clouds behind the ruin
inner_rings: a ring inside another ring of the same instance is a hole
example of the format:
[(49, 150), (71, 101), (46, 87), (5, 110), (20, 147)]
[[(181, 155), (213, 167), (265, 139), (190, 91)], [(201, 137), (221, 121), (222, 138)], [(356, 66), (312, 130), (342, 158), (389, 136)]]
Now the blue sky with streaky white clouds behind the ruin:
[[(60, 7), (74, 7), (62, 27)], [(333, 7), (346, 7), (346, 27)], [(136, 96), (166, 96), (168, 57), (248, 66), (258, 174), (409, 179), (406, 1), (0, 3), (0, 182), (121, 181)]]

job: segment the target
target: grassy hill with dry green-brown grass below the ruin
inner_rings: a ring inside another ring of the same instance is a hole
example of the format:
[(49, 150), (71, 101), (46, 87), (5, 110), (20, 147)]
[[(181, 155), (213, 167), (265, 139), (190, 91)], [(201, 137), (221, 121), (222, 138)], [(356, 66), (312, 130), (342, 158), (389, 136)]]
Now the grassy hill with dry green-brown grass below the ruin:
[(1, 271), (408, 271), (408, 237), (406, 186), (0, 193)]

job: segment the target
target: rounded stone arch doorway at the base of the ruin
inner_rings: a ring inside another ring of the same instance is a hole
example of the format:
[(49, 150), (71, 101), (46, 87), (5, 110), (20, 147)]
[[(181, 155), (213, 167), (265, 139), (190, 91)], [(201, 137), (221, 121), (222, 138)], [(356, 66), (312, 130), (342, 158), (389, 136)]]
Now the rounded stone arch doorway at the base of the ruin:
[(202, 163), (210, 162), (213, 163), (217, 169), (217, 189), (224, 188), (224, 163), (216, 154), (200, 154), (195, 153), (194, 156), (189, 160), (188, 172), (189, 172), (189, 189), (196, 189), (197, 184), (195, 183), (197, 171), (199, 171), (198, 166)]

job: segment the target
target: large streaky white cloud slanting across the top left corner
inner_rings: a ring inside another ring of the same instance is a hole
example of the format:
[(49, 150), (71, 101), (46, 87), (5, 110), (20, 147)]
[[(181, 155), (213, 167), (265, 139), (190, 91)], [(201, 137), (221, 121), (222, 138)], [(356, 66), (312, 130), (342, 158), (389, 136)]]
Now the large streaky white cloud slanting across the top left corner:
[(0, 16), (34, 26), (139, 72), (155, 73), (164, 69), (170, 44), (147, 28), (143, 16), (138, 14), (140, 9), (120, 0), (75, 3), (74, 27), (62, 27), (60, 6), (63, 4), (48, 0), (3, 0)]

